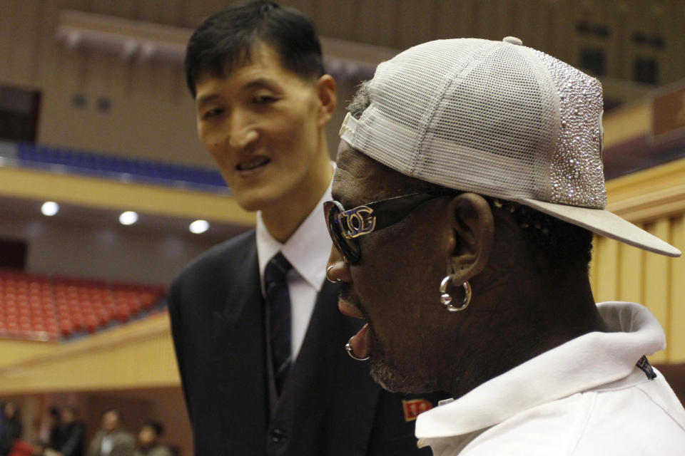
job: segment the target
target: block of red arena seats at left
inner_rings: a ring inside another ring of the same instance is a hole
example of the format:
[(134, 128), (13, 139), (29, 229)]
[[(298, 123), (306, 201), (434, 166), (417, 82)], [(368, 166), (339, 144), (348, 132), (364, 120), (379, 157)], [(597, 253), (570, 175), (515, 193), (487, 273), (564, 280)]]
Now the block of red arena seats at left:
[(163, 309), (162, 286), (0, 269), (0, 337), (64, 340)]

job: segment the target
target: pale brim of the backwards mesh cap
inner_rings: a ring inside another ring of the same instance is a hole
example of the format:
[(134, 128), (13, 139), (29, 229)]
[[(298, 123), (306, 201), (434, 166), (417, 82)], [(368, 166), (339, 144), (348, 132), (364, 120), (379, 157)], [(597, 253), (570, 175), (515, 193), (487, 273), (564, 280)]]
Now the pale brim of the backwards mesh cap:
[(533, 207), (545, 214), (562, 219), (579, 227), (602, 234), (602, 236), (617, 239), (640, 249), (649, 250), (667, 257), (680, 257), (681, 252), (671, 244), (662, 241), (653, 234), (649, 234), (631, 222), (622, 219), (617, 214), (604, 209), (589, 209), (587, 207), (568, 206), (538, 201), (537, 199), (522, 198), (518, 202)]

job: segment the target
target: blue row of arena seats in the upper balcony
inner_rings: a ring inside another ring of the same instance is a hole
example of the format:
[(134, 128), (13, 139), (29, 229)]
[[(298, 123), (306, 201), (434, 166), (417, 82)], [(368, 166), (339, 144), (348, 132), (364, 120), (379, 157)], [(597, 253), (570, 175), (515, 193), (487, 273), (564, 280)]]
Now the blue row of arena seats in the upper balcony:
[(108, 177), (161, 185), (201, 187), (206, 190), (227, 190), (219, 172), (202, 167), (191, 167), (153, 160), (139, 160), (98, 152), (69, 150), (60, 147), (36, 145), (29, 142), (16, 144), (16, 154), (6, 150), (4, 155), (14, 155), (23, 166), (43, 167), (54, 170), (62, 167), (66, 172), (76, 172), (98, 177)]

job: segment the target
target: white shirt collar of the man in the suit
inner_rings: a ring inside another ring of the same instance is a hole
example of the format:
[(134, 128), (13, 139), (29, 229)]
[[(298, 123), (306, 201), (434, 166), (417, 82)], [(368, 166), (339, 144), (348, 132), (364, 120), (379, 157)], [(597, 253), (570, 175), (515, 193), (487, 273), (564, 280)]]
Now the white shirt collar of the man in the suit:
[[(335, 171), (335, 162), (331, 162), (331, 164), (333, 171)], [(333, 180), (328, 184), (328, 188), (313, 211), (283, 244), (271, 236), (262, 219), (262, 213), (257, 212), (257, 257), (262, 293), (264, 293), (264, 270), (270, 259), (278, 252), (283, 252), (285, 259), (290, 261), (293, 269), (298, 271), (298, 274), (310, 286), (317, 292), (321, 291), (331, 247), (328, 229), (323, 220), (323, 203), (333, 199), (330, 193), (332, 184)]]

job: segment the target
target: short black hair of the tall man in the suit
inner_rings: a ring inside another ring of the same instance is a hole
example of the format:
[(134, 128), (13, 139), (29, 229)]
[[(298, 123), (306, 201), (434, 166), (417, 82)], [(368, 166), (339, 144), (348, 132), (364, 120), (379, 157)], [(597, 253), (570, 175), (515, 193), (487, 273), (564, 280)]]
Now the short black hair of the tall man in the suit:
[(273, 1), (250, 1), (210, 16), (193, 32), (186, 49), (186, 83), (193, 97), (201, 73), (223, 78), (233, 65), (250, 61), (250, 51), (265, 43), (280, 63), (302, 78), (325, 73), (321, 45), (312, 21)]

